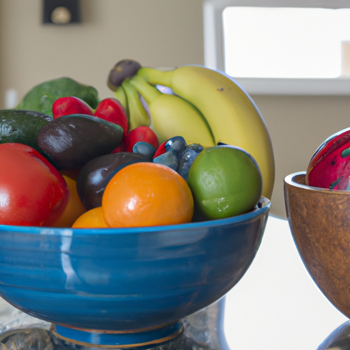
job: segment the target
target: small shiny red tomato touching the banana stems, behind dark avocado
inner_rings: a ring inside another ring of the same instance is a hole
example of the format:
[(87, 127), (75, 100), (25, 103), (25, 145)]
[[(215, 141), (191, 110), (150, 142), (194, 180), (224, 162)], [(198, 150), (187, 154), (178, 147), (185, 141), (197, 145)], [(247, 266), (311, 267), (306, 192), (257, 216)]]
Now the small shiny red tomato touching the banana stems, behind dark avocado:
[(122, 106), (122, 103), (120, 103), (120, 101), (116, 98), (109, 97), (100, 101), (96, 110), (94, 111), (94, 116), (107, 120), (107, 122), (122, 126), (124, 130), (124, 136), (128, 134), (128, 117), (126, 116), (126, 112)]

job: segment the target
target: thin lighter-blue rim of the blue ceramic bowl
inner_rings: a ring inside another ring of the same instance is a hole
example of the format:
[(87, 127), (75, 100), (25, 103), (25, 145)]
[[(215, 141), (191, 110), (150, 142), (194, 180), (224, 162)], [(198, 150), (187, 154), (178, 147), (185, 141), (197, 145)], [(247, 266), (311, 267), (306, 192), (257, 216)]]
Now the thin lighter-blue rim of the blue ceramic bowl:
[(58, 236), (85, 236), (89, 235), (108, 235), (108, 234), (138, 234), (147, 232), (161, 232), (161, 231), (177, 231), (177, 230), (191, 230), (198, 228), (211, 228), (213, 226), (223, 226), (227, 224), (239, 224), (243, 221), (251, 221), (265, 215), (269, 212), (271, 200), (262, 196), (258, 205), (250, 212), (233, 217), (226, 217), (225, 219), (215, 219), (208, 221), (189, 222), (186, 224), (173, 224), (163, 226), (139, 226), (128, 228), (64, 228), (64, 227), (49, 227), (49, 226), (15, 226), (15, 225), (1, 225), (0, 232), (16, 232), (25, 234), (47, 234)]

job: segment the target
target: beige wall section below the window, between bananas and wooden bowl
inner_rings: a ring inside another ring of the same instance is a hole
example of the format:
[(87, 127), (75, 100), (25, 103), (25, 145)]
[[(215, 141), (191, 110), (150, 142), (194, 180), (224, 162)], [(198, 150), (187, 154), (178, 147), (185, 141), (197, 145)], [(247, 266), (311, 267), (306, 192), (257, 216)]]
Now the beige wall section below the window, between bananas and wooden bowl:
[(306, 171), (323, 141), (350, 126), (350, 96), (252, 96), (273, 143), (276, 179), (271, 214), (286, 217), (283, 179)]

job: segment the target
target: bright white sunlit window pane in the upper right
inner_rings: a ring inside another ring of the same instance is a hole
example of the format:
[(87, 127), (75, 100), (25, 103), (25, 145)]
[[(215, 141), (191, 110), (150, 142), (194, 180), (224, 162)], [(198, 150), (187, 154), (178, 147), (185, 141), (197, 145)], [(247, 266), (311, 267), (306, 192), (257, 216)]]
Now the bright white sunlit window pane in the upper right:
[(223, 23), (232, 77), (334, 78), (344, 71), (350, 9), (229, 7)]

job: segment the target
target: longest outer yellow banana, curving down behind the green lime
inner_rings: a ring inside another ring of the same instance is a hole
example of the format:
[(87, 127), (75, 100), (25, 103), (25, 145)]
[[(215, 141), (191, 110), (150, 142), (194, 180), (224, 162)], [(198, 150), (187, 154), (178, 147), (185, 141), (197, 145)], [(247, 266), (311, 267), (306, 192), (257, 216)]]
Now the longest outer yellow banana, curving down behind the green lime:
[(262, 173), (262, 195), (271, 199), (275, 180), (271, 139), (254, 101), (232, 78), (198, 65), (167, 71), (142, 67), (137, 75), (152, 85), (170, 87), (174, 94), (195, 105), (211, 126), (215, 142), (252, 154)]

